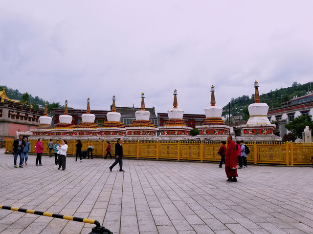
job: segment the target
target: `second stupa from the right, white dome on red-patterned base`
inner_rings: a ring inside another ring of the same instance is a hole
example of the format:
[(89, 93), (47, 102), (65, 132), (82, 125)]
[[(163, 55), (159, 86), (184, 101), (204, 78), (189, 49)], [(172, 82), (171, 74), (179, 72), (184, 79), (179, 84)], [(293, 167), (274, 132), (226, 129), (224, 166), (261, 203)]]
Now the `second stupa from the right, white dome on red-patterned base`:
[(223, 109), (215, 105), (214, 86), (211, 86), (211, 106), (204, 109), (205, 119), (202, 126), (196, 126), (199, 129), (200, 139), (206, 140), (226, 140), (230, 134), (230, 127), (224, 124), (222, 120)]

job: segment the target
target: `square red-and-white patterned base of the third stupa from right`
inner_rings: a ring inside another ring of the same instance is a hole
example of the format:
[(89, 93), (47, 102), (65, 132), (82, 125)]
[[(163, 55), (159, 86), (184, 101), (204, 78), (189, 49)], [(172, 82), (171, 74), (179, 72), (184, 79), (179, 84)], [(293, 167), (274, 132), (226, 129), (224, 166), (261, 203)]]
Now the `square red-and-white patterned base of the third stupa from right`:
[(158, 138), (162, 140), (188, 140), (192, 137), (190, 136), (190, 131), (192, 128), (186, 126), (165, 126), (159, 127), (160, 135)]

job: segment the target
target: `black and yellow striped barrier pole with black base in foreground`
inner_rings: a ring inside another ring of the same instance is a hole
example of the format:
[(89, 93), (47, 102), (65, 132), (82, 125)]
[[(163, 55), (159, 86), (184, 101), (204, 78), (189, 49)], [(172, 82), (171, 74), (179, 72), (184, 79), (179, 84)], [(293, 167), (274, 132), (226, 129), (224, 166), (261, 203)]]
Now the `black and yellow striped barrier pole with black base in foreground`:
[(53, 217), (53, 218), (62, 218), (62, 219), (67, 219), (67, 220), (72, 220), (72, 221), (77, 221), (77, 222), (83, 222), (83, 223), (90, 223), (96, 226), (92, 228), (91, 233), (89, 234), (99, 234), (99, 233), (100, 234), (113, 234), (109, 229), (106, 229), (105, 227), (101, 226), (99, 221), (94, 220), (94, 219), (80, 218), (80, 217), (74, 217), (74, 216), (69, 216), (69, 215), (53, 214), (53, 213), (48, 213), (48, 212), (43, 212), (43, 211), (34, 211), (34, 210), (28, 210), (28, 209), (12, 207), (12, 206), (3, 206), (3, 205), (0, 205), (0, 209), (18, 211), (18, 212), (34, 214), (34, 215), (43, 215), (43, 216), (48, 216), (48, 217)]

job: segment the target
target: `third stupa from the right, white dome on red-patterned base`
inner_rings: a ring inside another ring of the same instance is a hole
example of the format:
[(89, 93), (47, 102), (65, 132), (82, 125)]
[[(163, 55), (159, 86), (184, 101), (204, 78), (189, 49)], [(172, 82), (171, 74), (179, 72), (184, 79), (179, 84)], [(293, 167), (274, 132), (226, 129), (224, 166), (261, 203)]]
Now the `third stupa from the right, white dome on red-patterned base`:
[(168, 110), (168, 120), (165, 122), (164, 127), (159, 127), (160, 139), (190, 139), (189, 135), (192, 128), (186, 126), (183, 120), (183, 110), (178, 108), (177, 90), (174, 90), (174, 103), (173, 108)]

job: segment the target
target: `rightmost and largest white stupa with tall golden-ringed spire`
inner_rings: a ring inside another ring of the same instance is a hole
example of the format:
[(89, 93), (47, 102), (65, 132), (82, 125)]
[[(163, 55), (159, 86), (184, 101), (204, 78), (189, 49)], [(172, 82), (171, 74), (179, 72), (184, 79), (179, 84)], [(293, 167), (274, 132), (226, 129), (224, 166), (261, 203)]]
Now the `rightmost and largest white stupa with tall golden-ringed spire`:
[(268, 120), (268, 104), (260, 102), (258, 81), (254, 81), (254, 103), (248, 106), (249, 119), (246, 124), (240, 125), (241, 135), (237, 140), (271, 141), (281, 140), (273, 134), (276, 127)]

